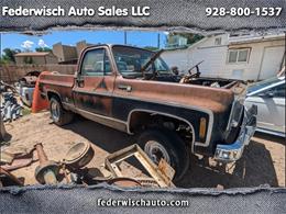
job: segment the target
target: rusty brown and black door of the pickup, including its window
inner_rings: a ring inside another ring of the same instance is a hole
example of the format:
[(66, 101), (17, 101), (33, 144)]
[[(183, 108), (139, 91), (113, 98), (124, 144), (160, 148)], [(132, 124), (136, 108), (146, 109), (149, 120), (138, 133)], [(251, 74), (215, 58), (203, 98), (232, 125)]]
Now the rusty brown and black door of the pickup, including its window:
[(106, 47), (87, 49), (74, 88), (75, 105), (84, 114), (111, 115), (114, 75)]

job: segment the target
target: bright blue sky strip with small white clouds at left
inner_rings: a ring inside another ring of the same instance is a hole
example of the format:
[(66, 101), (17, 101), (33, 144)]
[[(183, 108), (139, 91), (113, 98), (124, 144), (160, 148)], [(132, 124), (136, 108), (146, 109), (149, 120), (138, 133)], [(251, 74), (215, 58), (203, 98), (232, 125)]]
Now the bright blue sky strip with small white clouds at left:
[[(157, 35), (161, 37), (161, 47), (165, 46), (166, 34), (164, 32), (146, 32), (146, 31), (127, 31), (127, 41), (129, 45), (157, 46)], [(29, 47), (34, 50), (38, 46), (51, 47), (53, 44), (62, 42), (65, 45), (75, 45), (79, 41), (87, 41), (87, 43), (109, 43), (109, 44), (124, 44), (123, 31), (51, 31), (47, 34), (23, 35), (18, 33), (2, 33), (1, 50), (9, 48), (19, 48), (24, 50)]]

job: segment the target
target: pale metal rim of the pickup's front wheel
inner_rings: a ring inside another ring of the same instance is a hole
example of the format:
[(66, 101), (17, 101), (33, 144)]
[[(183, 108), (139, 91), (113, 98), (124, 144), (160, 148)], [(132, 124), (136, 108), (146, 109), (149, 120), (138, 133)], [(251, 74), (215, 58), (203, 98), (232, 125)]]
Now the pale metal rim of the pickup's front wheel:
[(164, 158), (168, 164), (170, 164), (166, 148), (158, 142), (148, 140), (144, 146), (144, 151), (156, 165), (158, 165), (161, 158)]

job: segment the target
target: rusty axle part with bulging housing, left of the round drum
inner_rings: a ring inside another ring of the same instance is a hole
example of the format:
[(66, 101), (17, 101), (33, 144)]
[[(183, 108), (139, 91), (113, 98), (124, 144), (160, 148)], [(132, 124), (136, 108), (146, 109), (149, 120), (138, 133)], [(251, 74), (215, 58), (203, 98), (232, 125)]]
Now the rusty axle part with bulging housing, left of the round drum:
[(35, 149), (40, 160), (40, 165), (35, 169), (35, 179), (42, 184), (56, 184), (59, 172), (58, 164), (47, 159), (41, 143), (35, 145)]

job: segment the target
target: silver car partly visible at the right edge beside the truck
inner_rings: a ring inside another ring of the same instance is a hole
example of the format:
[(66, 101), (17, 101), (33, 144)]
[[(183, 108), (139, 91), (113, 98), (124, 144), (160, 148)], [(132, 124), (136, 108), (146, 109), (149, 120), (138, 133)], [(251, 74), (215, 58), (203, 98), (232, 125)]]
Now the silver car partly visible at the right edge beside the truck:
[(249, 87), (245, 105), (257, 105), (256, 131), (285, 135), (285, 76), (274, 77)]

